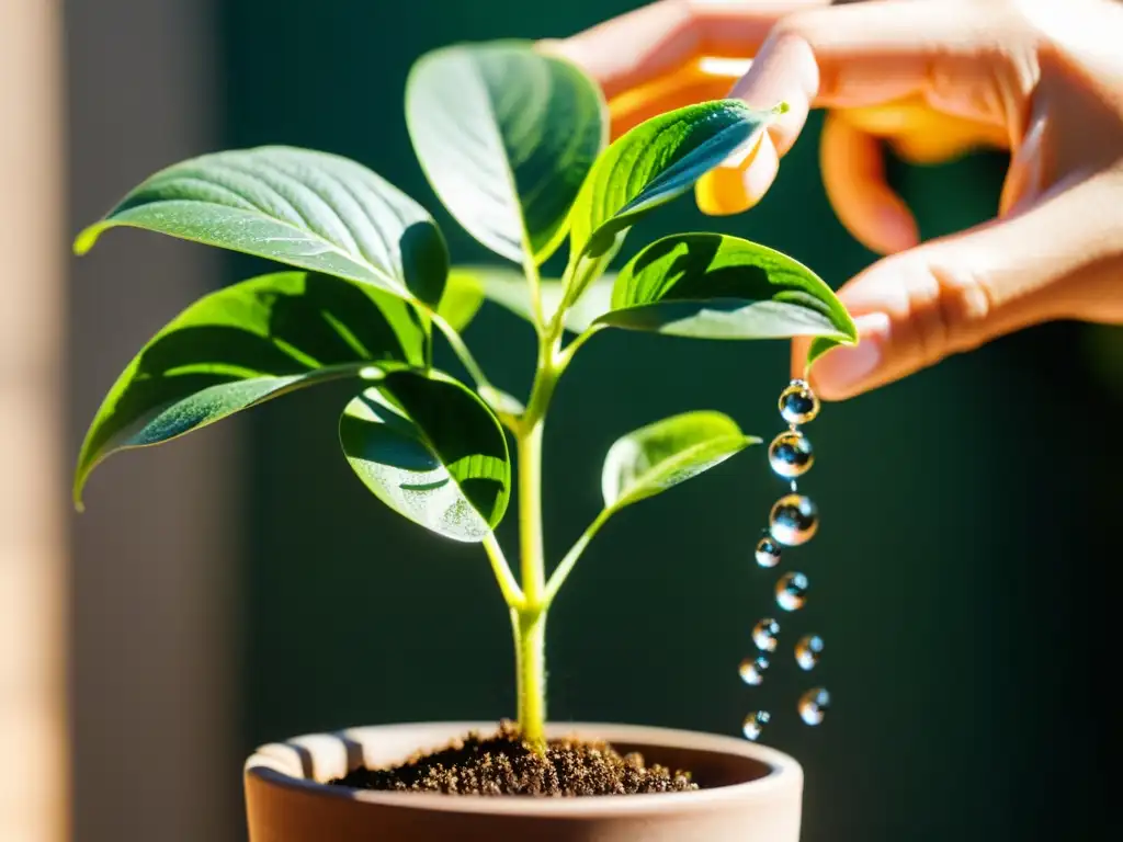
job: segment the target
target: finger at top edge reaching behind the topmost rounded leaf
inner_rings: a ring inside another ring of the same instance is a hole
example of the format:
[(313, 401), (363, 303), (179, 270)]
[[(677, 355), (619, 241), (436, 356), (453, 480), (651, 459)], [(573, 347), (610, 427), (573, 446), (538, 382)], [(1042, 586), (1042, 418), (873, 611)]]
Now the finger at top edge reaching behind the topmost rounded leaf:
[(541, 48), (576, 63), (612, 99), (695, 58), (751, 57), (777, 20), (828, 2), (659, 0)]

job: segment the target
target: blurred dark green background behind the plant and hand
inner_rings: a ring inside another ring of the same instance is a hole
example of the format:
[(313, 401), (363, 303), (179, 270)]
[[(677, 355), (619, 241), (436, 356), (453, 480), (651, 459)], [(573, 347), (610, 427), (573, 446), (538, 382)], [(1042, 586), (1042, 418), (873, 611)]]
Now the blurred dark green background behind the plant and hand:
[[(231, 0), (222, 140), (351, 156), (435, 211), (455, 259), (486, 259), (414, 163), (402, 117), (410, 64), (450, 42), (567, 35), (636, 6)], [(715, 222), (682, 200), (638, 228), (628, 253), (719, 228), (844, 282), (873, 255), (831, 213), (812, 122), (757, 209)], [(1003, 166), (983, 155), (894, 177), (930, 237), (992, 214)], [(250, 268), (231, 264), (229, 280)], [(1112, 602), (1104, 571), (1120, 559), (1103, 536), (1123, 502), (1123, 457), (1111, 441), (1121, 393), (1094, 375), (1085, 339), (1077, 326), (1039, 328), (824, 409), (807, 428), (818, 463), (803, 485), (822, 529), (788, 556), (811, 598), (780, 617), (761, 688), (745, 687), (737, 663), (754, 622), (775, 613), (776, 574), (751, 560), (782, 489), (764, 448), (615, 518), (551, 615), (551, 719), (737, 734), (748, 711), (770, 710), (764, 741), (805, 767), (806, 842), (1102, 839), (1106, 785), (1090, 770), (1115, 667), (1097, 630)], [(487, 309), (468, 340), (493, 379), (523, 393), (526, 326)], [(787, 354), (782, 342), (626, 333), (591, 342), (549, 422), (551, 556), (597, 511), (600, 460), (619, 434), (703, 408), (775, 434)], [(247, 748), (513, 713), (510, 631), (483, 552), (423, 533), (356, 482), (335, 433), (347, 396), (299, 393), (249, 422)], [(810, 676), (791, 658), (806, 631), (827, 641)], [(818, 729), (795, 714), (812, 680), (834, 703)]]

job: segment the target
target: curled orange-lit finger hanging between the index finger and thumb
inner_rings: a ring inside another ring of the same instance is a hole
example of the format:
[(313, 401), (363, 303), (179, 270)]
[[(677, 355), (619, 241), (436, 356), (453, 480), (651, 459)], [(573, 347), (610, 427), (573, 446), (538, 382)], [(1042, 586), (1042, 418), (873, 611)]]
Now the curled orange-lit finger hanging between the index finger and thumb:
[(916, 220), (885, 181), (877, 138), (830, 113), (823, 122), (820, 168), (839, 220), (864, 246), (893, 254), (920, 242)]

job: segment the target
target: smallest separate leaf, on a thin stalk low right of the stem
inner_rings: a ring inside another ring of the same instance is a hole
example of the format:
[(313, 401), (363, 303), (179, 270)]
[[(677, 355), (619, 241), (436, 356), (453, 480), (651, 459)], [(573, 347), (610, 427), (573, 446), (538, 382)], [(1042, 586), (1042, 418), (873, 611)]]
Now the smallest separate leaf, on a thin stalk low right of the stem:
[(687, 412), (633, 430), (609, 448), (601, 475), (605, 512), (660, 494), (760, 439), (720, 412)]

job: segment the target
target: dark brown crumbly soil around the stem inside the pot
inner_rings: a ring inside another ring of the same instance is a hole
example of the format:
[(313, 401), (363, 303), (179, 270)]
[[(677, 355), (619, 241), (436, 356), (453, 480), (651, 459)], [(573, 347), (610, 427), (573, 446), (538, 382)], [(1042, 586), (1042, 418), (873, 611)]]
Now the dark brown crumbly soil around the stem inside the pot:
[(690, 772), (647, 766), (604, 742), (553, 740), (537, 754), (510, 722), (490, 736), (468, 734), (390, 769), (356, 769), (330, 781), (356, 789), (454, 795), (639, 795), (697, 789)]

